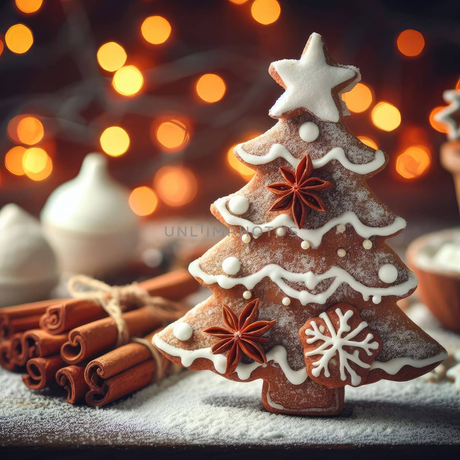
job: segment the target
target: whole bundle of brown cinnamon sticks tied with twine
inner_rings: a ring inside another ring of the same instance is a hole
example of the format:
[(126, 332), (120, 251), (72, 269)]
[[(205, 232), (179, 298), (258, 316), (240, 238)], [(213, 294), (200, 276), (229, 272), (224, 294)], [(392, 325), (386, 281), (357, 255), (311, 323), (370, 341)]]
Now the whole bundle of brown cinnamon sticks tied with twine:
[[(151, 346), (153, 335), (183, 316), (178, 302), (197, 289), (186, 270), (176, 270), (138, 285), (155, 305), (127, 302), (121, 315), (133, 342), (117, 345), (118, 329), (97, 301), (54, 299), (0, 309), (0, 365), (26, 368), (31, 389), (56, 383), (67, 401), (102, 406), (176, 371)], [(141, 339), (137, 339), (141, 338)]]

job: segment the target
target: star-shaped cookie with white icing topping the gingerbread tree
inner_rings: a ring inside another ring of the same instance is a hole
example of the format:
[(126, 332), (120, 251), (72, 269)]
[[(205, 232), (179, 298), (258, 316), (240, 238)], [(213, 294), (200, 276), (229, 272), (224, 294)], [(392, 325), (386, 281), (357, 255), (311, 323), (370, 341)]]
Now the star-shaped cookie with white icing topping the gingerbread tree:
[(335, 91), (340, 104), (342, 92), (350, 91), (361, 80), (356, 67), (328, 64), (321, 35), (316, 33), (311, 34), (299, 60), (276, 61), (269, 72), (286, 89), (270, 109), (273, 118), (297, 116), (308, 110), (320, 120), (336, 123), (340, 113), (332, 95), (334, 88), (350, 81), (345, 88)]

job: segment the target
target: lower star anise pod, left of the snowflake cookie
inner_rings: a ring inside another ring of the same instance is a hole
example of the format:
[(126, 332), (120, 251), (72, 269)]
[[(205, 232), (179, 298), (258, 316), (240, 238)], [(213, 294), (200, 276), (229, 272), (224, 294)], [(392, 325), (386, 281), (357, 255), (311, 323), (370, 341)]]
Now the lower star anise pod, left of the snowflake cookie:
[(259, 317), (259, 299), (255, 299), (244, 307), (239, 318), (227, 305), (223, 305), (222, 316), (227, 328), (213, 327), (204, 332), (219, 337), (219, 342), (211, 347), (214, 355), (228, 351), (225, 374), (231, 374), (240, 363), (243, 353), (259, 362), (267, 363), (261, 343), (268, 342), (262, 337), (276, 321), (256, 321)]

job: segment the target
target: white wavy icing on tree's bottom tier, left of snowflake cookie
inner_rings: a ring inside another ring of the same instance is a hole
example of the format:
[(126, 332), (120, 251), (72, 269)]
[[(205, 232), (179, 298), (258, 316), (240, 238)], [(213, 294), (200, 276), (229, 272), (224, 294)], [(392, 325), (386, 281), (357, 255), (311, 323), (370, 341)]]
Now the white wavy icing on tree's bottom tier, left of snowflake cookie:
[[(176, 348), (173, 345), (167, 344), (164, 340), (158, 337), (158, 334), (153, 336), (153, 344), (160, 350), (166, 352), (168, 355), (180, 357), (182, 365), (186, 368), (190, 367), (192, 363), (198, 358), (209, 359), (213, 362), (214, 368), (219, 374), (224, 374), (225, 367), (227, 364), (227, 358), (224, 355), (213, 355), (211, 347), (199, 348), (198, 350), (183, 350)], [(267, 362), (274, 361), (279, 364), (280, 368), (286, 375), (286, 378), (293, 385), (300, 385), (307, 380), (308, 376), (305, 372), (305, 367), (294, 371), (288, 364), (288, 352), (282, 345), (274, 346), (270, 351), (266, 353)], [(265, 364), (259, 364), (259, 362), (252, 362), (251, 364), (243, 364), (240, 362), (236, 366), (236, 374), (240, 380), (247, 380), (251, 376), (252, 372), (259, 366), (266, 366)]]

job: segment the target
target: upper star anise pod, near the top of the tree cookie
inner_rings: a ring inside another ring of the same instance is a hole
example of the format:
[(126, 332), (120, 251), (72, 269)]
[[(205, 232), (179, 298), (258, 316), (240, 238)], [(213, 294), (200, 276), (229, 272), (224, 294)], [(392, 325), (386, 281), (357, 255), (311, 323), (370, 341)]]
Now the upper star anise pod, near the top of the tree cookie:
[(297, 227), (301, 229), (311, 209), (326, 211), (324, 201), (317, 195), (317, 192), (331, 189), (334, 184), (327, 180), (311, 177), (313, 163), (308, 153), (300, 160), (295, 173), (283, 166), (280, 167), (280, 171), (286, 182), (266, 185), (270, 192), (281, 196), (270, 207), (270, 211), (285, 211), (292, 207), (294, 221)]

